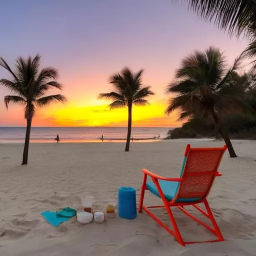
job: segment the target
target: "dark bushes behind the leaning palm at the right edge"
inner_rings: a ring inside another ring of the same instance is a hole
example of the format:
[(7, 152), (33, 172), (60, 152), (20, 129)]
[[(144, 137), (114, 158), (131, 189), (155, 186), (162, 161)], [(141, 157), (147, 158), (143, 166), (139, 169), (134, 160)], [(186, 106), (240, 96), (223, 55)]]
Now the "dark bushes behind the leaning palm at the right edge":
[[(234, 72), (232, 77), (233, 84), (239, 84), (243, 90), (241, 99), (244, 108), (221, 111), (218, 113), (219, 120), (230, 138), (256, 139), (256, 74), (248, 72), (238, 75)], [(191, 113), (181, 127), (169, 130), (166, 139), (195, 137), (221, 137), (212, 117), (205, 118), (198, 113)]]

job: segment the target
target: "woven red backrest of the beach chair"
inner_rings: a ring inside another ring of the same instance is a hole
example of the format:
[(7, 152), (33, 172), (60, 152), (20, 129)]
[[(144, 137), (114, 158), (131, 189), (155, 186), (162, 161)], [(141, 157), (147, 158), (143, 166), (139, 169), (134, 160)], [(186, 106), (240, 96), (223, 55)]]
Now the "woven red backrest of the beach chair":
[(214, 172), (218, 170), (221, 158), (226, 150), (223, 147), (198, 148), (188, 144), (184, 153), (184, 161), (180, 182), (175, 199), (206, 197), (214, 181)]

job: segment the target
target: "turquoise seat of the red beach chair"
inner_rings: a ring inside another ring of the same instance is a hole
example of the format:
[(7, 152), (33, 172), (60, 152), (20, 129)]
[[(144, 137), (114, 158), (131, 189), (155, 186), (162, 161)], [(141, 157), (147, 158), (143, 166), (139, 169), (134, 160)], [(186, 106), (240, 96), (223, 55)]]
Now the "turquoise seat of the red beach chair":
[[(162, 189), (165, 199), (168, 201), (172, 201), (175, 197), (179, 182), (178, 181), (168, 181), (168, 180), (158, 180), (159, 185)], [(160, 194), (152, 181), (147, 181), (146, 186), (148, 190), (155, 194), (156, 196), (160, 197)], [(197, 198), (177, 198), (176, 202), (193, 202), (200, 200), (200, 197)]]

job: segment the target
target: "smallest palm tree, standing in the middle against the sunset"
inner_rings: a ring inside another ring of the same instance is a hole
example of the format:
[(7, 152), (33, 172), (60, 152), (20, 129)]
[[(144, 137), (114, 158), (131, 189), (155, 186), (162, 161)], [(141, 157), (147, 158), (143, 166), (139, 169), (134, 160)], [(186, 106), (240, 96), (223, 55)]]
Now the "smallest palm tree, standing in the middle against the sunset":
[(100, 93), (98, 98), (112, 99), (110, 109), (128, 107), (128, 129), (125, 151), (129, 151), (131, 134), (131, 109), (132, 105), (144, 106), (149, 104), (146, 97), (153, 95), (150, 86), (142, 87), (141, 75), (143, 70), (137, 73), (131, 72), (127, 67), (121, 73), (113, 74), (109, 77), (109, 83), (113, 85), (114, 91)]

